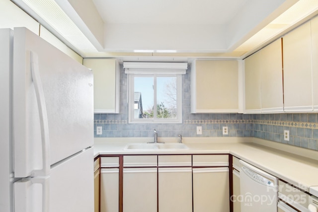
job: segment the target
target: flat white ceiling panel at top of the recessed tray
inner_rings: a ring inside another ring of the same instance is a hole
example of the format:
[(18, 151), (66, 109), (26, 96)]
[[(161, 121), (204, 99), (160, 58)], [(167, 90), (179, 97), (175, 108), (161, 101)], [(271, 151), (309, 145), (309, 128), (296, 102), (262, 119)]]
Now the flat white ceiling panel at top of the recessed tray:
[(93, 0), (105, 23), (228, 24), (247, 0)]

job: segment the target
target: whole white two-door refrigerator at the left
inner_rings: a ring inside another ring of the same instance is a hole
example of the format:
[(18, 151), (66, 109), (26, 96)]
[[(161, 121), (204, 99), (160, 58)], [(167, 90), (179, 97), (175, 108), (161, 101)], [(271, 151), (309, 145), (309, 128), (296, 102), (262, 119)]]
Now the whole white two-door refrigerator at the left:
[(93, 75), (0, 29), (0, 212), (93, 212)]

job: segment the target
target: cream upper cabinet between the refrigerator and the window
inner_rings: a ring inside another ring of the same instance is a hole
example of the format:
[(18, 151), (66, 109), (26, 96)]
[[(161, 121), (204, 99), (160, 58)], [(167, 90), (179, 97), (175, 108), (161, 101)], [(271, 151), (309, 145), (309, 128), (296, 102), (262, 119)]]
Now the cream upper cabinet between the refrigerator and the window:
[(120, 66), (116, 59), (84, 59), (94, 75), (94, 113), (119, 113)]

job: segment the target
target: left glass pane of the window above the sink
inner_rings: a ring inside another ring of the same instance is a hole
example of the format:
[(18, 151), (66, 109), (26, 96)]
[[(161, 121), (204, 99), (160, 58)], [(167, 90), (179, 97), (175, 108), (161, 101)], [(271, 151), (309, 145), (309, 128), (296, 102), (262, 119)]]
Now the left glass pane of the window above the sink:
[(154, 118), (154, 77), (134, 77), (134, 118)]

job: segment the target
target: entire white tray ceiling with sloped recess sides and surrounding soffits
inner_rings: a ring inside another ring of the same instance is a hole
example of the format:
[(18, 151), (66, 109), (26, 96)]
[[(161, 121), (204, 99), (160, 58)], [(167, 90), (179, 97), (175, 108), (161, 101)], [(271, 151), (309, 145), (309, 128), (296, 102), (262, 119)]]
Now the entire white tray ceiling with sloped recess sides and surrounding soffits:
[[(80, 56), (117, 57), (124, 61), (243, 58), (318, 13), (318, 0), (12, 1)], [(63, 23), (56, 10), (50, 12), (45, 3), (49, 1), (60, 7), (55, 9), (61, 9), (81, 33), (69, 32), (70, 22)], [(307, 10), (299, 9), (297, 4), (307, 5)], [(32, 9), (35, 7), (37, 11)], [(48, 22), (44, 10), (56, 21)], [(284, 17), (297, 21), (277, 19), (286, 12), (289, 15)], [(61, 24), (53, 26), (54, 22)], [(276, 30), (277, 26), (281, 29)], [(64, 35), (62, 28), (67, 29)], [(93, 48), (85, 49), (87, 45), (82, 41), (76, 43), (74, 38), (79, 36), (84, 36), (82, 40)]]

